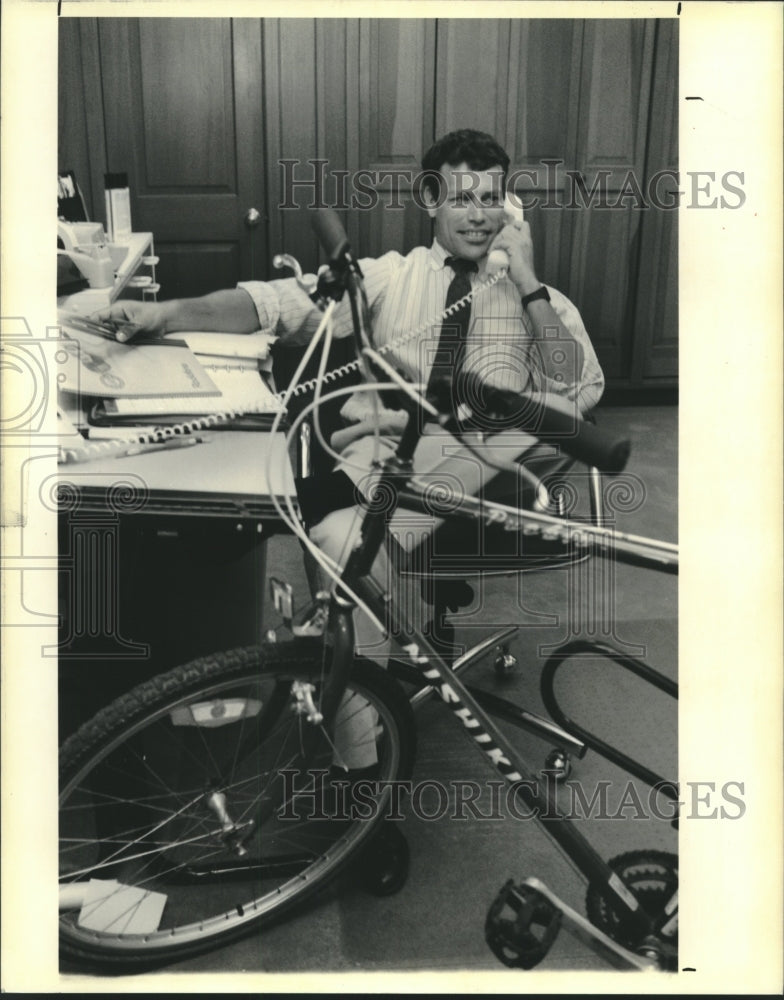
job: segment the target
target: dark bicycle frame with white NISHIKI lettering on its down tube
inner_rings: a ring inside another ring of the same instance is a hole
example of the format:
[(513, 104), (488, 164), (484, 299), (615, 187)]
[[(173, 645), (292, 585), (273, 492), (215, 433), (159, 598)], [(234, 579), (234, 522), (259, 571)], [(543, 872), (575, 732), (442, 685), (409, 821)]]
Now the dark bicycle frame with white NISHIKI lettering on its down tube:
[[(346, 245), (347, 246), (347, 245)], [(351, 299), (355, 325), (355, 339), (360, 355), (373, 354), (369, 348), (369, 315), (362, 289), (361, 272), (358, 265), (345, 253), (338, 263), (333, 258), (329, 279), (334, 284), (336, 278), (342, 282)], [(381, 468), (378, 488), (381, 495), (391, 495), (402, 508), (419, 513), (429, 511), (423, 503), (422, 495), (412, 488), (409, 480), (413, 473), (412, 458), (422, 434), (421, 411), (409, 406), (408, 424), (401, 436), (397, 452)], [(469, 498), (461, 501), (456, 516), (489, 518), (498, 521), (509, 519), (514, 526), (523, 523), (538, 525), (540, 530), (550, 530), (566, 537), (570, 533), (578, 540), (592, 538), (602, 553), (622, 558), (627, 562), (645, 565), (664, 572), (675, 572), (677, 555), (674, 546), (636, 536), (619, 535), (600, 526), (586, 526), (569, 522), (562, 518), (549, 517), (501, 504), (488, 504)], [(394, 636), (407, 635), (409, 641), (403, 647), (409, 659), (420, 671), (423, 682), (431, 686), (441, 700), (451, 709), (463, 727), (473, 738), (479, 750), (495, 769), (514, 788), (515, 795), (525, 808), (543, 824), (546, 832), (568, 854), (585, 878), (593, 885), (606, 887), (626, 920), (641, 939), (650, 943), (650, 952), (657, 953), (657, 939), (664, 934), (673, 936), (675, 928), (670, 917), (654, 919), (641, 905), (634, 892), (622, 878), (602, 859), (588, 840), (578, 831), (573, 821), (559, 812), (550, 782), (541, 781), (514, 746), (498, 729), (490, 716), (483, 710), (477, 698), (456, 676), (455, 670), (439, 654), (434, 645), (421, 632), (404, 631), (406, 623), (395, 607), (391, 595), (370, 577), (371, 566), (378, 555), (387, 535), (390, 510), (367, 509), (364, 514), (360, 538), (350, 553), (340, 577), (340, 583), (333, 588), (330, 598), (328, 630), (332, 640), (332, 671), (330, 687), (333, 691), (333, 705), (337, 705), (340, 692), (348, 678), (354, 656), (353, 611), (356, 602), (350, 596), (357, 595), (371, 609), (376, 617), (386, 623), (388, 633)], [(450, 515), (451, 516), (451, 515)], [(509, 523), (507, 521), (506, 523)], [(565, 534), (564, 534), (565, 533)], [(612, 551), (611, 551), (612, 549)]]

